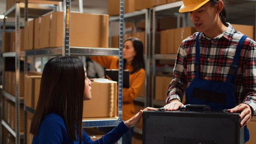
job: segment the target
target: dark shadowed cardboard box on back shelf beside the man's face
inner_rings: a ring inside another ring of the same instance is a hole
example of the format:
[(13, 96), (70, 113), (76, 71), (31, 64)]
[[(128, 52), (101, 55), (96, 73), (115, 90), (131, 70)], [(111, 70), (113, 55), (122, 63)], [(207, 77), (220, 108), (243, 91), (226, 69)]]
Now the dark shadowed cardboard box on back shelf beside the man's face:
[[(158, 29), (160, 30), (167, 30), (167, 29), (173, 29), (173, 28), (178, 28), (177, 25), (177, 17), (165, 17), (158, 19), (159, 27)], [(182, 18), (180, 18), (180, 28), (182, 27)]]

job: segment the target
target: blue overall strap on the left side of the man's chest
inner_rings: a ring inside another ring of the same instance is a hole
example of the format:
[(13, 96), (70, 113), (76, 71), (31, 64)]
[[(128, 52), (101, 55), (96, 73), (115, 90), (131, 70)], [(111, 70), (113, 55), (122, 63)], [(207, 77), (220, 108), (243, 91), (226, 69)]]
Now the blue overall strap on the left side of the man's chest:
[(200, 43), (199, 43), (199, 37), (201, 33), (197, 34), (196, 42), (195, 42), (195, 79), (200, 79), (200, 61), (199, 61), (199, 55), (200, 55)]

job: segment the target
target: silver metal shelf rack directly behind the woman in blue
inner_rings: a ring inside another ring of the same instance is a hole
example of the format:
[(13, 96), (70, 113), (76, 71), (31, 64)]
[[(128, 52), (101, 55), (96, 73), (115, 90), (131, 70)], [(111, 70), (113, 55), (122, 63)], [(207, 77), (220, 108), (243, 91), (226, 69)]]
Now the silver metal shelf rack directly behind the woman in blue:
[[(60, 0), (56, 0), (60, 1)], [(85, 127), (105, 127), (105, 126), (116, 126), (120, 123), (122, 117), (122, 88), (123, 88), (123, 6), (124, 0), (120, 0), (120, 36), (119, 36), (119, 49), (112, 48), (89, 48), (89, 47), (72, 47), (70, 46), (70, 0), (64, 1), (64, 16), (63, 16), (63, 47), (62, 48), (50, 48), (50, 49), (38, 49), (25, 51), (25, 74), (28, 73), (27, 68), (28, 57), (39, 57), (39, 56), (119, 56), (119, 83), (118, 83), (118, 116), (114, 118), (103, 118), (103, 119), (83, 119), (82, 126)], [(79, 5), (82, 5), (82, 1), (79, 0)], [(82, 7), (80, 7), (82, 8)], [(82, 12), (82, 11), (80, 11)], [(24, 106), (25, 118), (26, 111), (33, 113), (34, 109)], [(26, 133), (26, 119), (25, 119), (25, 133)], [(26, 137), (25, 137), (26, 142)], [(118, 141), (121, 144), (121, 139)]]

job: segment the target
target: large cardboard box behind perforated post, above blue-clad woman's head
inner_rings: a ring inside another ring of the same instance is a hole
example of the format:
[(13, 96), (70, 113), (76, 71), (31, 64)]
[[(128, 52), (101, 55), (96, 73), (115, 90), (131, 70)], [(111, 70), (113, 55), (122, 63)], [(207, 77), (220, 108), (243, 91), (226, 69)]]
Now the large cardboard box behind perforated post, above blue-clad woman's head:
[[(50, 47), (63, 46), (63, 12), (50, 16)], [(71, 13), (70, 46), (108, 47), (109, 16)], [(35, 34), (36, 35), (36, 34)]]

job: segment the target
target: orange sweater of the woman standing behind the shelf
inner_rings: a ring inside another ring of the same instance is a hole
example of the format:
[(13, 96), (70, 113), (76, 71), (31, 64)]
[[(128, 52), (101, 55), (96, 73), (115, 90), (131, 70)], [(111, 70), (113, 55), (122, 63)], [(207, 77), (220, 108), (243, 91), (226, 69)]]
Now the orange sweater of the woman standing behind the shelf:
[[(92, 60), (100, 63), (106, 69), (118, 69), (118, 58), (114, 56), (92, 56)], [(126, 70), (131, 72), (133, 70), (132, 65), (126, 64)], [(135, 108), (133, 100), (137, 97), (138, 92), (142, 88), (145, 79), (145, 70), (140, 69), (139, 71), (129, 74), (129, 88), (123, 88), (123, 105), (122, 115), (123, 120), (128, 120), (135, 114)]]

